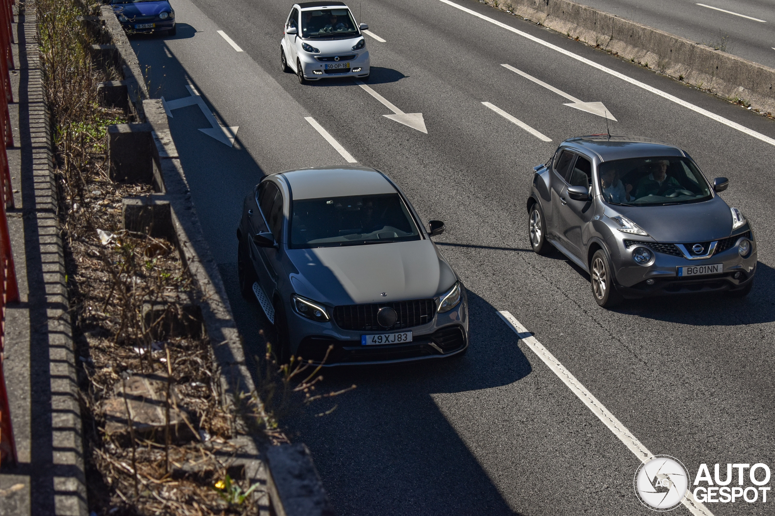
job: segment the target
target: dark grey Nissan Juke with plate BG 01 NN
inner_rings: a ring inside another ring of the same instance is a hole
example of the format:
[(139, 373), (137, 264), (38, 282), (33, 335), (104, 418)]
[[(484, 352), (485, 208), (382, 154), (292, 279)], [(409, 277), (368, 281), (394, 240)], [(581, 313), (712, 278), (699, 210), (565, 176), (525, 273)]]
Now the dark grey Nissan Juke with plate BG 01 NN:
[(527, 212), (533, 251), (549, 244), (591, 276), (600, 306), (625, 298), (725, 291), (746, 296), (756, 273), (748, 220), (681, 149), (649, 138), (592, 135), (534, 167)]

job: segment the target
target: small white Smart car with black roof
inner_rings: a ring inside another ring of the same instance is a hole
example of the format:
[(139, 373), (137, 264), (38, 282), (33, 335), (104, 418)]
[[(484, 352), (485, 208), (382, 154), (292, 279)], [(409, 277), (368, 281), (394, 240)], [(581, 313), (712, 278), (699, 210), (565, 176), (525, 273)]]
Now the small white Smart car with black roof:
[(360, 31), (368, 28), (343, 2), (294, 4), (280, 42), (283, 71), (294, 71), (301, 84), (323, 77), (367, 80), (369, 51)]

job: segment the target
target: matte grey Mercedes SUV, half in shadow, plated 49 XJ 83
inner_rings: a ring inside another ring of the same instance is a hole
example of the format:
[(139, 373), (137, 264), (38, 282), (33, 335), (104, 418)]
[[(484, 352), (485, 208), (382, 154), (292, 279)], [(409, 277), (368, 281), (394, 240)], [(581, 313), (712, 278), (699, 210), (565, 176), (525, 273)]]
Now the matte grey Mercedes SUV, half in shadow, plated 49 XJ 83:
[(404, 193), (360, 167), (264, 177), (237, 228), (239, 288), (277, 329), (278, 358), (325, 365), (459, 356), (467, 294)]

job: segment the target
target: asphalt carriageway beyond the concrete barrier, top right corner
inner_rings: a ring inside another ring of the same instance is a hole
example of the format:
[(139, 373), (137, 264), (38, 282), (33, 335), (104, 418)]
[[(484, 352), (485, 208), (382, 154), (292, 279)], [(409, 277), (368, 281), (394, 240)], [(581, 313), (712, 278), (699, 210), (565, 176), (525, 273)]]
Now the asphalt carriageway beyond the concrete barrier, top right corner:
[(735, 0), (734, 2), (732, 0), (702, 0), (701, 2), (584, 0), (580, 3), (643, 25), (662, 29), (697, 43), (721, 48), (735, 56), (775, 68), (775, 50), (773, 50), (775, 4), (773, 2), (767, 0)]

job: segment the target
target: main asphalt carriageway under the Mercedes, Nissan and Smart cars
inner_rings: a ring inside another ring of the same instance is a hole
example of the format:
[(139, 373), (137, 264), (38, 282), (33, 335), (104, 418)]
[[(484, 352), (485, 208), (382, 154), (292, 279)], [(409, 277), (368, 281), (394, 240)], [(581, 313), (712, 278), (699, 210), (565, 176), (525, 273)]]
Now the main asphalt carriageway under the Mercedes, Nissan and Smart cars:
[[(268, 325), (236, 287), (243, 196), (265, 173), (346, 164), (308, 116), (359, 163), (396, 180), (425, 220), (446, 221), (435, 240), (469, 289), (465, 357), (326, 371), (327, 388), (358, 388), (337, 398), (331, 415), (313, 416), (330, 406), (319, 405), (287, 420), (312, 450), (338, 514), (651, 514), (632, 489), (639, 460), (498, 310), (533, 332), (649, 450), (679, 458), (692, 476), (700, 463), (711, 471), (714, 463), (775, 466), (775, 146), (438, 0), (363, 2), (359, 21), (386, 40), (367, 38), (369, 85), (402, 111), (422, 112), (426, 135), (384, 118), (390, 111), (352, 80), (302, 86), (281, 72), (289, 2), (172, 3), (177, 36), (137, 37), (133, 45), (155, 97), (186, 97), (192, 84), (223, 125), (239, 126), (232, 149), (198, 131), (209, 124), (196, 106), (171, 119), (248, 354), (263, 354), (259, 332)], [(458, 3), (775, 137), (771, 121), (743, 108), (477, 2)], [(603, 102), (618, 119), (612, 133), (674, 142), (707, 176), (729, 177), (722, 196), (759, 238), (750, 296), (647, 299), (606, 310), (579, 268), (559, 253), (532, 253), (524, 209), (531, 167), (565, 138), (605, 132), (605, 120), (564, 106), (566, 98), (502, 63)], [(770, 499), (708, 504), (713, 514), (773, 514), (772, 506)]]

